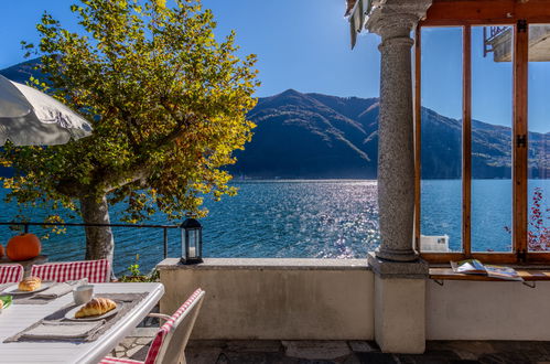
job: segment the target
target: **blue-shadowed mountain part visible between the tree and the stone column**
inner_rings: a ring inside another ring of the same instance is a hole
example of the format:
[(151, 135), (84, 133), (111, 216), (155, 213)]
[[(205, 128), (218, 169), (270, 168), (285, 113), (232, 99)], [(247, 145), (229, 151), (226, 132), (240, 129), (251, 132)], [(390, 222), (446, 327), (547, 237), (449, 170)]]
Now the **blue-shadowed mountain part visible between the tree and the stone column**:
[(235, 174), (250, 178), (374, 178), (377, 143), (362, 117), (376, 99), (289, 89), (261, 98), (249, 114), (252, 141), (237, 152)]

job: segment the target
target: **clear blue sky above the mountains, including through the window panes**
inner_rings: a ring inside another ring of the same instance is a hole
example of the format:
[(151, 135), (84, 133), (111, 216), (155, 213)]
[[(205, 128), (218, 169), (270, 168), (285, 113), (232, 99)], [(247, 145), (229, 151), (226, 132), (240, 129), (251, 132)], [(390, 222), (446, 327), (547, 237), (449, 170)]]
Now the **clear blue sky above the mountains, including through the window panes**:
[[(35, 24), (47, 10), (64, 26), (77, 31), (69, 6), (76, 0), (0, 1), (0, 68), (24, 61), (20, 41), (37, 41)], [(169, 1), (170, 2), (170, 1)], [(203, 0), (218, 23), (222, 40), (235, 30), (239, 55), (258, 56), (262, 85), (256, 96), (294, 88), (302, 93), (377, 97), (380, 55), (376, 34), (364, 32), (355, 50), (344, 0)], [(6, 14), (11, 14), (7, 17)], [(461, 118), (462, 40), (460, 29), (429, 29), (422, 33), (422, 105)], [(511, 125), (511, 64), (483, 56), (482, 28), (473, 30), (473, 117)], [(550, 131), (550, 63), (530, 65), (530, 130)]]

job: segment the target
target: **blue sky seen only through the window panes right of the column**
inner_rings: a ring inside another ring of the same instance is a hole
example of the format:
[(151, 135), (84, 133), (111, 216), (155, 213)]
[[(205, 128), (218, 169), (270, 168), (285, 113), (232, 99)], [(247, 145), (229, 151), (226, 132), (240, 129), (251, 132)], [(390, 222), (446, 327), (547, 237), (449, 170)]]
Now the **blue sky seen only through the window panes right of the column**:
[[(462, 29), (422, 30), (422, 105), (462, 118)], [(529, 130), (550, 131), (550, 62), (529, 63)], [(513, 67), (483, 55), (483, 26), (472, 28), (472, 118), (511, 127)]]

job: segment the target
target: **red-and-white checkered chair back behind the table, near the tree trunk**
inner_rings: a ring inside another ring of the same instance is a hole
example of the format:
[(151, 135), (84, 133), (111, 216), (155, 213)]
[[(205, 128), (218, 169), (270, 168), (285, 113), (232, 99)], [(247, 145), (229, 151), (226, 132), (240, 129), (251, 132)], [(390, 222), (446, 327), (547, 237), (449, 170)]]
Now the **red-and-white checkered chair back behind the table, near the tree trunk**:
[(31, 276), (57, 282), (88, 278), (90, 283), (103, 283), (109, 281), (109, 274), (107, 259), (43, 264), (31, 269)]

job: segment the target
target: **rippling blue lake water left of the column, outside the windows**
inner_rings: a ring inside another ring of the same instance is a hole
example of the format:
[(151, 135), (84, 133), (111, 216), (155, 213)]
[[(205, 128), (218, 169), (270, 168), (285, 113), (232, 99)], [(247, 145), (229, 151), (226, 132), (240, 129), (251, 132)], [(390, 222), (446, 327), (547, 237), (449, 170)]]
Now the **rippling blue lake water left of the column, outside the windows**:
[[(202, 221), (204, 256), (271, 258), (364, 258), (378, 245), (376, 181), (244, 181), (234, 183), (239, 193), (222, 202), (206, 201), (211, 211)], [(17, 214), (14, 203), (2, 208), (8, 221)], [(111, 207), (117, 222), (120, 207)], [(44, 211), (26, 212), (40, 221)], [(161, 215), (147, 223), (166, 224)], [(170, 223), (168, 223), (170, 224)], [(31, 232), (43, 233), (32, 227)], [(0, 228), (6, 242), (13, 235)], [(142, 271), (162, 259), (161, 229), (115, 228), (115, 271), (123, 270), (140, 254)], [(170, 231), (169, 256), (180, 255), (180, 236)], [(84, 258), (84, 229), (43, 242), (51, 260)]]

